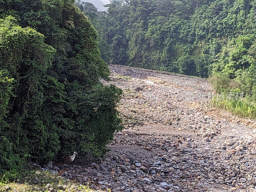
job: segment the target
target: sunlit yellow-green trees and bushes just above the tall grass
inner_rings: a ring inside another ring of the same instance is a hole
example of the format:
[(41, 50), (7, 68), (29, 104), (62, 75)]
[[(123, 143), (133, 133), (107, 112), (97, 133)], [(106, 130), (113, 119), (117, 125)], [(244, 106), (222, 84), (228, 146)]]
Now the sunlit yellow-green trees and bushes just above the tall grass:
[(212, 70), (216, 75), (210, 78), (217, 92), (238, 88), (252, 96), (256, 80), (255, 37), (248, 34), (233, 38), (217, 54)]

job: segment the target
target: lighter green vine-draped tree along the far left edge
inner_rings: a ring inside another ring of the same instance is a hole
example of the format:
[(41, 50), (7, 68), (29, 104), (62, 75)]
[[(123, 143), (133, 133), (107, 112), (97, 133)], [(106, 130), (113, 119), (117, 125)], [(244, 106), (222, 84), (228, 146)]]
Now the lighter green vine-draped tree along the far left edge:
[[(18, 156), (24, 152), (30, 154), (31, 143), (37, 143), (42, 148), (50, 144), (45, 137), (36, 130), (36, 122), (41, 117), (36, 115), (43, 103), (42, 79), (46, 69), (51, 65), (54, 49), (44, 43), (44, 36), (36, 30), (21, 28), (17, 21), (8, 16), (0, 20), (0, 66), (1, 66), (1, 105), (0, 132), (1, 132), (1, 167), (14, 169), (15, 163), (25, 156)], [(33, 111), (33, 113), (31, 113)], [(33, 127), (29, 128), (28, 124)], [(34, 131), (32, 131), (35, 129)], [(44, 129), (44, 128), (43, 128)], [(50, 131), (51, 129), (46, 131)], [(42, 133), (42, 132), (41, 132)], [(27, 138), (31, 135), (31, 138)], [(41, 143), (33, 138), (42, 137)], [(26, 139), (25, 139), (26, 138)], [(29, 141), (31, 139), (31, 141)], [(17, 148), (22, 145), (24, 148)], [(17, 149), (16, 149), (17, 148)], [(30, 149), (29, 149), (30, 148)], [(47, 148), (50, 147), (47, 146)], [(54, 146), (53, 146), (54, 148)], [(23, 151), (24, 150), (24, 151)], [(26, 151), (26, 152), (25, 152)], [(16, 153), (17, 152), (17, 153)], [(29, 153), (28, 153), (29, 152)], [(44, 151), (43, 151), (44, 152)], [(57, 151), (53, 151), (57, 152)], [(32, 155), (32, 151), (31, 151)]]

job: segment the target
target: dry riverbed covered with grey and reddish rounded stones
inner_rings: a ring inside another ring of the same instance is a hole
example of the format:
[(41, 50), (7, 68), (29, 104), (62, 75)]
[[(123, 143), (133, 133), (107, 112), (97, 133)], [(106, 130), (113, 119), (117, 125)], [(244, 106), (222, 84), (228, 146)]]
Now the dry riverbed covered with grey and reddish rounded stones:
[(119, 111), (125, 129), (109, 144), (106, 159), (46, 169), (113, 192), (256, 191), (256, 122), (211, 107), (206, 79), (110, 69), (112, 81), (104, 83), (124, 90)]

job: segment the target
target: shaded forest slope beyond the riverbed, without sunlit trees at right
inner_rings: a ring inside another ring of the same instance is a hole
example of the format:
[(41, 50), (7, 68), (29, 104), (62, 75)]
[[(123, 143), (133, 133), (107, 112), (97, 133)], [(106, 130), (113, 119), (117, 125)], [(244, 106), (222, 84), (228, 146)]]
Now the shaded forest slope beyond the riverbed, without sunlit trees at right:
[[(247, 43), (256, 33), (254, 0), (110, 2), (108, 12), (98, 12), (97, 29), (110, 46), (114, 64), (209, 77), (228, 42), (248, 35), (241, 42)], [(246, 63), (231, 63), (227, 70), (233, 65)]]

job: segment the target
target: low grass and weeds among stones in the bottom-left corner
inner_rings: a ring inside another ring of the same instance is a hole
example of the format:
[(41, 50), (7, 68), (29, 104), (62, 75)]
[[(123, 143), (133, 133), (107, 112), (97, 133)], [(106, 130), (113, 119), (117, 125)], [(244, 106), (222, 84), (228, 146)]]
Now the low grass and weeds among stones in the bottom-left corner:
[(51, 173), (50, 171), (35, 171), (35, 170), (32, 170), (32, 171), (26, 170), (23, 173), (6, 172), (0, 179), (0, 192), (2, 191), (95, 192), (95, 190), (90, 189), (89, 183), (87, 183), (87, 185), (82, 185), (79, 182), (65, 179), (59, 176), (58, 174)]

